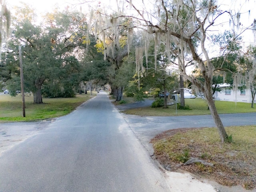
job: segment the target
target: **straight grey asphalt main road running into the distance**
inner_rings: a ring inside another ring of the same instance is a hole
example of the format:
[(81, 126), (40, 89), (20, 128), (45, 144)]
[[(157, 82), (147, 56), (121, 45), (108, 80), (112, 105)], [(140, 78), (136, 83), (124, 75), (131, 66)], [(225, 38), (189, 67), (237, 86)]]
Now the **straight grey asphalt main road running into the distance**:
[(155, 165), (105, 92), (0, 156), (0, 192), (165, 192)]

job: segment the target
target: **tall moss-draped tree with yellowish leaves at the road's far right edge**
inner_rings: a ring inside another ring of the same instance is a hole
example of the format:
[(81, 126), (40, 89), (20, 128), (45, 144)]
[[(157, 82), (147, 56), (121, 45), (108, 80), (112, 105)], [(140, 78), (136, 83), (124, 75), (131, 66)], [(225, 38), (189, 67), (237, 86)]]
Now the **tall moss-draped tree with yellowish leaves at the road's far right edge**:
[[(130, 21), (126, 19), (119, 18), (113, 14), (110, 18), (106, 17), (103, 20), (102, 15), (98, 12), (98, 20), (94, 27), (98, 26), (96, 33), (98, 34), (98, 51), (102, 51), (104, 58), (112, 64), (112, 79), (115, 79), (115, 75), (118, 70), (120, 70), (122, 64), (124, 63), (124, 58), (129, 53), (130, 39), (129, 35), (132, 33), (131, 30), (124, 26), (129, 25)], [(99, 24), (98, 24), (99, 22)], [(124, 26), (123, 26), (124, 25)], [(112, 83), (112, 89), (114, 90), (114, 95), (116, 96), (116, 101), (120, 101), (123, 98), (124, 84), (114, 84)]]

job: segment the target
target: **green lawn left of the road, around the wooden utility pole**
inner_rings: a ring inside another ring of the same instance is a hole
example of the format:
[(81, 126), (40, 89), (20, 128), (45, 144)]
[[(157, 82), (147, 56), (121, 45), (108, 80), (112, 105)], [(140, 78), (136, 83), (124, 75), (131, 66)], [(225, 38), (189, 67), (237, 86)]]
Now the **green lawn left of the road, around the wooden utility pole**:
[(25, 97), (26, 117), (22, 116), (22, 97), (0, 95), (0, 122), (35, 121), (66, 115), (83, 102), (96, 96), (77, 94), (75, 98), (43, 98), (43, 104), (33, 104), (33, 96)]

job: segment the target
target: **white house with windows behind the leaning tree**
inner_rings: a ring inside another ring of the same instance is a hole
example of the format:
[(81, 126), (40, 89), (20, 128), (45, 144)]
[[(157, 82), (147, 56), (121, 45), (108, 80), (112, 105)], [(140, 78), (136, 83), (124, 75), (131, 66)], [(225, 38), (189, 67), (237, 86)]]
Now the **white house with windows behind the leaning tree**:
[[(216, 91), (214, 93), (215, 100), (220, 101), (233, 101), (233, 102), (252, 102), (252, 95), (250, 89), (237, 90), (236, 92), (230, 88), (230, 84), (218, 84), (218, 87), (221, 88), (221, 91)], [(254, 98), (254, 102), (256, 99)]]

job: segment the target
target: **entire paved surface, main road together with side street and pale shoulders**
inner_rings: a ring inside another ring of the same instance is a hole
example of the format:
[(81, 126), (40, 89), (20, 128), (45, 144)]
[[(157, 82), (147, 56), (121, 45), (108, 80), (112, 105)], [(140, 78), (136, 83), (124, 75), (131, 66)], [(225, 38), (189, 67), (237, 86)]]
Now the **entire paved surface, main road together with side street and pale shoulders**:
[[(150, 105), (150, 101), (139, 105)], [(256, 124), (255, 116), (220, 115), (224, 126)], [(52, 122), (0, 124), (0, 192), (215, 191), (191, 176), (163, 173), (150, 158), (154, 151), (149, 142), (156, 134), (209, 126), (215, 126), (210, 115), (120, 114), (107, 94), (100, 92)]]

